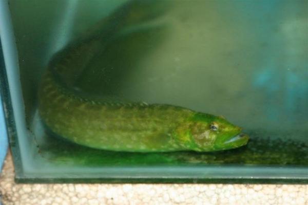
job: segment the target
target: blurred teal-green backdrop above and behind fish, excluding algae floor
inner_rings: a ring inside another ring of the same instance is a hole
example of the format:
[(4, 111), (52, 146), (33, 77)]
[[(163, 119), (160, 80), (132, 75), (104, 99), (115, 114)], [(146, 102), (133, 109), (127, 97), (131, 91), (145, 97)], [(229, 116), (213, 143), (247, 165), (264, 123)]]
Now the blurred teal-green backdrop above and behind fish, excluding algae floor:
[[(39, 76), (50, 55), (121, 3), (10, 2), (28, 118), (33, 116)], [(170, 36), (160, 44), (158, 31), (148, 38), (134, 33), (114, 42), (101, 63), (117, 72), (106, 77), (89, 68), (83, 88), (223, 115), (252, 129), (308, 127), (306, 1), (178, 1), (177, 5), (176, 11), (166, 14), (171, 18), (166, 20)], [(24, 18), (27, 23), (21, 21)], [(131, 45), (133, 39), (139, 43)], [(155, 44), (157, 48), (147, 46)], [(144, 52), (151, 54), (141, 57)], [(121, 55), (120, 62), (115, 53)], [(137, 63), (131, 60), (132, 53), (139, 53)], [(108, 84), (102, 83), (106, 79)], [(108, 86), (112, 89), (106, 90)]]

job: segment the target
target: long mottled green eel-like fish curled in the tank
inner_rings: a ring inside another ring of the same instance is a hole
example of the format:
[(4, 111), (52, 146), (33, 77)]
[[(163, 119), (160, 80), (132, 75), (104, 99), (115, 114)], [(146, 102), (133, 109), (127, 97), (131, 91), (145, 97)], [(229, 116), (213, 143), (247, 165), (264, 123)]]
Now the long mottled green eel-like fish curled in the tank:
[(247, 143), (241, 128), (222, 117), (166, 104), (112, 102), (74, 89), (105, 42), (123, 29), (155, 21), (166, 10), (160, 4), (131, 1), (105, 18), (101, 29), (54, 55), (38, 92), (40, 116), (50, 131), (77, 144), (124, 152), (213, 152)]

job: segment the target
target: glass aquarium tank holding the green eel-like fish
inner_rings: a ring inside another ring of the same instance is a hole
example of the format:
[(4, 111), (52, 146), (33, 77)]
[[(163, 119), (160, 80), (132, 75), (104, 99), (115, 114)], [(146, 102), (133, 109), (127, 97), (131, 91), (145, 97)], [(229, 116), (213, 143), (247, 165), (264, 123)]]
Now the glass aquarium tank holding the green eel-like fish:
[(308, 182), (308, 2), (0, 3), (17, 182)]

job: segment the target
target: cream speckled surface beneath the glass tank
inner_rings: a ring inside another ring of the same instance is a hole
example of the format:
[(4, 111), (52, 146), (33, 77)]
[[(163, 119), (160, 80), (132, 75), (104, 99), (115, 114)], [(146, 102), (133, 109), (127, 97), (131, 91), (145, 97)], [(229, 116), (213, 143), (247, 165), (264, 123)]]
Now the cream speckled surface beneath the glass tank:
[(10, 204), (308, 204), (308, 185), (16, 184), (9, 153), (0, 176)]

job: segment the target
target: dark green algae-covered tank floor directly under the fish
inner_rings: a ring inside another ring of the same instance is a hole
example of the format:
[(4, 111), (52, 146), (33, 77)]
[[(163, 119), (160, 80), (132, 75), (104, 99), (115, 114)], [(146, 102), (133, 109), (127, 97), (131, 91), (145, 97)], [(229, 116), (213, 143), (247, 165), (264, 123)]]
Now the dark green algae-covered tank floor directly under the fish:
[[(246, 146), (221, 152), (127, 153), (110, 152), (81, 146), (45, 136), (40, 143), (41, 156), (57, 164), (69, 166), (142, 166), (142, 165), (308, 165), (308, 144), (300, 140), (273, 137), (264, 131), (249, 132)], [(300, 133), (303, 135), (303, 133)]]

